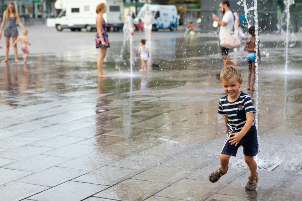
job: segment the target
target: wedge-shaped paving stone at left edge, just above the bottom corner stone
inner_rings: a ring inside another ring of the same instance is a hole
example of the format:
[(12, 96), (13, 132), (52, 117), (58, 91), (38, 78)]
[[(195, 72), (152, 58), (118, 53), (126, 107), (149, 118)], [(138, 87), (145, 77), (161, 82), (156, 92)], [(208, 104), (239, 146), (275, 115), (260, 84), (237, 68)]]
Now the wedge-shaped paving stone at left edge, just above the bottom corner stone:
[(32, 174), (31, 172), (0, 168), (0, 185)]

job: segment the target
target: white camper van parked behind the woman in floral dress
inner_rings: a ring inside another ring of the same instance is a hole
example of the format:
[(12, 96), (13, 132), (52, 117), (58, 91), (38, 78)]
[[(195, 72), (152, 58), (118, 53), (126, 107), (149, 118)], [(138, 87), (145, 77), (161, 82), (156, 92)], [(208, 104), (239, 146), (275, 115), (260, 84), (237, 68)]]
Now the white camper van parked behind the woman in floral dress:
[(85, 28), (91, 31), (96, 28), (96, 7), (99, 3), (105, 3), (107, 11), (104, 20), (111, 30), (121, 30), (123, 22), (124, 2), (123, 0), (57, 0), (55, 8), (61, 9), (56, 18), (56, 29), (71, 29), (72, 31)]

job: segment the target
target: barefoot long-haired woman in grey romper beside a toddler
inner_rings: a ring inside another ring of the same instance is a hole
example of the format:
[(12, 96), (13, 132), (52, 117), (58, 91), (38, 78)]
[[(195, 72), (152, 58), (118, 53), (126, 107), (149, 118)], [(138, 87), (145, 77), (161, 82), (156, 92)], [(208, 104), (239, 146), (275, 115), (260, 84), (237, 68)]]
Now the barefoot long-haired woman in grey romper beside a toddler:
[[(5, 59), (2, 62), (7, 62), (8, 60), (8, 52), (9, 52), (9, 39), (12, 37), (13, 43), (18, 37), (18, 29), (16, 26), (16, 20), (19, 26), (22, 29), (26, 29), (20, 21), (19, 14), (15, 10), (14, 2), (9, 2), (6, 8), (6, 11), (3, 12), (3, 20), (1, 24), (0, 34), (2, 35), (2, 30), (4, 28), (4, 38), (5, 38)], [(18, 50), (17, 44), (14, 45), (14, 53), (15, 53), (15, 62), (18, 63)]]

